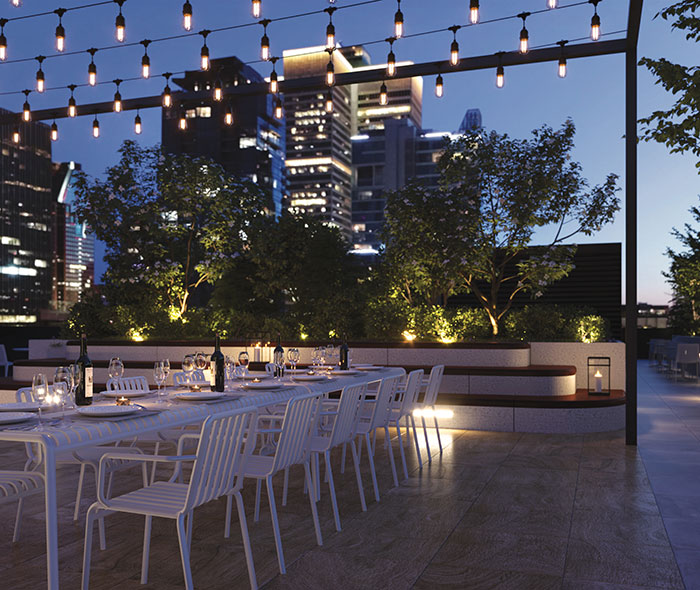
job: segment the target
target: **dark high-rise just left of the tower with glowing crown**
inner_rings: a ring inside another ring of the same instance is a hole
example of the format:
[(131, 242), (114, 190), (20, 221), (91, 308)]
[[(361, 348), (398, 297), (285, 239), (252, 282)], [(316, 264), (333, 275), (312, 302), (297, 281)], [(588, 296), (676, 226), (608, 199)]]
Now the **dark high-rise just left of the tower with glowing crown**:
[[(274, 116), (274, 97), (240, 95), (215, 101), (214, 88), (222, 89), (264, 78), (236, 57), (213, 59), (207, 71), (188, 71), (173, 80), (183, 91), (174, 93), (173, 107), (163, 109), (162, 144), (170, 153), (205, 156), (239, 177), (250, 178), (269, 189), (275, 213), (282, 210), (285, 194), (284, 120)], [(227, 110), (233, 124), (225, 124)], [(187, 128), (179, 128), (180, 114)]]

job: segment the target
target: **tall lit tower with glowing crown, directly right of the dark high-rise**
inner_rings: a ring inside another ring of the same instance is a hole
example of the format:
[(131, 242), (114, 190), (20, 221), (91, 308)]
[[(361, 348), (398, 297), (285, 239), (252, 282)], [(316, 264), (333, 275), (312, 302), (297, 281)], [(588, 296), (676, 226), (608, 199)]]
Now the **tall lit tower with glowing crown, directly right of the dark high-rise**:
[[(339, 51), (325, 47), (283, 53), (284, 77), (325, 76), (329, 60), (335, 74), (352, 66)], [(326, 109), (326, 100), (333, 104)], [(346, 86), (299, 90), (284, 94), (287, 121), (287, 208), (308, 213), (340, 228), (351, 237), (351, 92)]]

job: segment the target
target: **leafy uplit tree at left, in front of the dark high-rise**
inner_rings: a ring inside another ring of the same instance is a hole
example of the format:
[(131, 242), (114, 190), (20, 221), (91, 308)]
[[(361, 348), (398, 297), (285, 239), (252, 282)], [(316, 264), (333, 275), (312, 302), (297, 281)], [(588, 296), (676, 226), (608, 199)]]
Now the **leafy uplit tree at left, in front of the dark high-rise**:
[(78, 175), (76, 211), (106, 244), (111, 293), (146, 290), (172, 320), (184, 320), (197, 290), (247, 247), (246, 231), (266, 215), (268, 197), (204, 158), (133, 141), (119, 153), (105, 180)]

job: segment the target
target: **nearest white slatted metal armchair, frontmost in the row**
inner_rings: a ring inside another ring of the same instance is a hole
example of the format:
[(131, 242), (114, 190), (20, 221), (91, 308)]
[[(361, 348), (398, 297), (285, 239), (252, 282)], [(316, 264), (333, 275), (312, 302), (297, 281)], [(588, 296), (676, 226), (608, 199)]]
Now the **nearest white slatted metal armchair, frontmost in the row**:
[[(194, 509), (225, 494), (236, 497), (250, 585), (252, 588), (257, 588), (245, 510), (243, 509), (243, 500), (240, 494), (243, 481), (242, 468), (246, 464), (246, 459), (250, 456), (255, 444), (256, 416), (257, 410), (252, 407), (210, 416), (204, 421), (200, 433), (183, 436), (183, 441), (188, 436), (199, 439), (195, 455), (130, 456), (114, 452), (102, 457), (98, 478), (97, 502), (90, 506), (85, 525), (83, 590), (88, 589), (90, 581), (92, 530), (95, 519), (103, 517), (104, 515), (101, 516), (102, 513), (111, 514), (113, 512), (142, 514), (146, 517), (141, 562), (142, 584), (148, 581), (148, 558), (153, 517), (175, 520), (185, 587), (187, 590), (192, 590), (194, 582), (192, 581), (190, 568), (190, 547), (192, 544)], [(181, 449), (182, 446), (180, 446), (179, 451)], [(108, 498), (104, 492), (105, 474), (108, 471), (108, 463), (115, 459), (119, 461), (176, 462), (177, 467), (169, 481), (158, 481), (139, 490), (128, 492), (115, 498)], [(181, 472), (182, 461), (190, 460), (194, 461), (194, 465), (189, 483), (177, 483), (175, 480)]]

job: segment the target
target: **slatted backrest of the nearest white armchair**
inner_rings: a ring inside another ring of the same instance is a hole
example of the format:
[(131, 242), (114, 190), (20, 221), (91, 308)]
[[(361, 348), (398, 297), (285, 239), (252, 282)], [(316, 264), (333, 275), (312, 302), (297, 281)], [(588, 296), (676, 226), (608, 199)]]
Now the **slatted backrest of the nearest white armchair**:
[(256, 408), (247, 407), (204, 421), (183, 512), (240, 488), (242, 468), (255, 445), (257, 415)]

